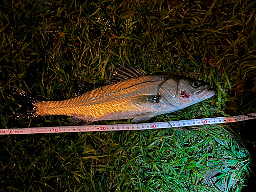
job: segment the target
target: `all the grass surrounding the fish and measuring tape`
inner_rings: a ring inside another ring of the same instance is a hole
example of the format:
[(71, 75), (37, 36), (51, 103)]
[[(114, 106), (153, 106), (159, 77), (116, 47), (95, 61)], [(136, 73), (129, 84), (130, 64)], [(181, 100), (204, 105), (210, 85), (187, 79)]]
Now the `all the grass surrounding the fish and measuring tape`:
[[(255, 4), (4, 0), (1, 127), (68, 125), (65, 116), (15, 120), (12, 88), (44, 100), (67, 99), (80, 81), (106, 83), (118, 63), (208, 81), (218, 91), (151, 122), (255, 112)], [(244, 186), (248, 177), (255, 179), (250, 121), (183, 131), (0, 136), (0, 189), (253, 191), (255, 184)], [(106, 123), (114, 121), (95, 122)]]

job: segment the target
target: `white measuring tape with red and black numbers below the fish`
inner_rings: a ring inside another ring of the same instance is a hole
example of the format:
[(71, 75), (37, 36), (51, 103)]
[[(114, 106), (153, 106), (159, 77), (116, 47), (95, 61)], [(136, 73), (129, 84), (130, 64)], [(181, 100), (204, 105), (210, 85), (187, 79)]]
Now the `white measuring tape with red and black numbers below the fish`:
[(231, 123), (254, 119), (256, 113), (238, 115), (234, 117), (212, 117), (204, 119), (190, 119), (169, 122), (140, 123), (140, 124), (109, 124), (109, 125), (80, 125), (80, 126), (54, 126), (54, 127), (34, 127), (24, 129), (4, 129), (0, 130), (0, 135), (35, 134), (35, 133), (68, 133), (68, 132), (97, 132), (97, 131), (123, 131), (123, 130), (150, 130), (170, 127), (207, 125), (218, 123)]

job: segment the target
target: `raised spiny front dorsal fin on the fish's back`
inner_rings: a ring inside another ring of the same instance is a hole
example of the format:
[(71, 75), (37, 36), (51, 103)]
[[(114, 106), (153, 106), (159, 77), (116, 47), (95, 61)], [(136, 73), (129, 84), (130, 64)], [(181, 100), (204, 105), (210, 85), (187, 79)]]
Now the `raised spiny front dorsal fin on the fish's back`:
[(112, 78), (110, 79), (110, 82), (118, 82), (124, 79), (130, 79), (141, 75), (145, 75), (145, 73), (133, 68), (132, 66), (122, 66), (119, 64), (119, 68), (114, 67), (114, 71), (112, 74)]

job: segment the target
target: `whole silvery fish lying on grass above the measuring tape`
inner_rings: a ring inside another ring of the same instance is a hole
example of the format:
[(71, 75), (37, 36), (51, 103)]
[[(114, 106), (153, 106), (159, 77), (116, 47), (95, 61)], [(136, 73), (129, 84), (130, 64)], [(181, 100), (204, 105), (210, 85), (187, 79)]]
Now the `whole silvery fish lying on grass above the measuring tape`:
[(60, 101), (38, 100), (17, 89), (15, 95), (26, 99), (19, 105), (20, 112), (14, 114), (17, 119), (71, 116), (72, 125), (120, 119), (138, 123), (184, 109), (216, 94), (203, 81), (168, 74), (147, 75), (131, 66), (115, 68), (113, 76), (111, 84)]

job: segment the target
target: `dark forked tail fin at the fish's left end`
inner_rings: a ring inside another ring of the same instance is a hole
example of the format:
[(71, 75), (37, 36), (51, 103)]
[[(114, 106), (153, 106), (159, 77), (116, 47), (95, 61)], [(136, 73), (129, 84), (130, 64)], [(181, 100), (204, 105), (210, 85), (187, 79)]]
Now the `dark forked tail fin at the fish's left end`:
[(15, 119), (37, 117), (37, 98), (31, 97), (23, 90), (14, 89), (14, 99), (18, 101), (19, 110), (14, 112)]

